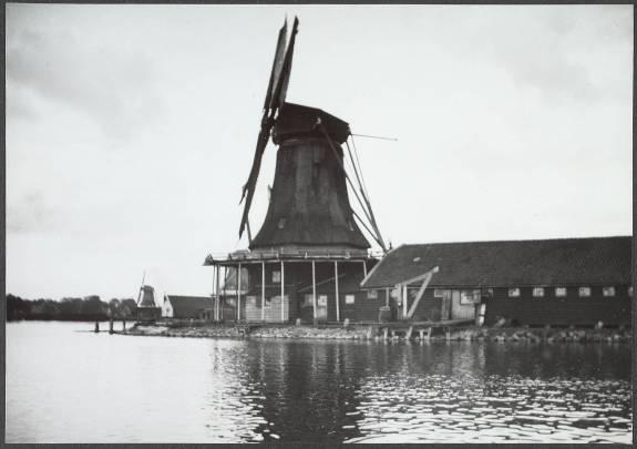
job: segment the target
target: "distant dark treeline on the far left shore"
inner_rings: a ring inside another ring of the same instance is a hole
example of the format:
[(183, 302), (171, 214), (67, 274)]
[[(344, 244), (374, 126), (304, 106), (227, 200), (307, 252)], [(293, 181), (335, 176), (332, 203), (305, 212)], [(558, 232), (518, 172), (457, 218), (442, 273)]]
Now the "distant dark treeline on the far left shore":
[(113, 298), (105, 303), (96, 295), (83, 298), (23, 299), (7, 295), (7, 320), (47, 319), (47, 320), (102, 320), (133, 319), (137, 310), (134, 299)]

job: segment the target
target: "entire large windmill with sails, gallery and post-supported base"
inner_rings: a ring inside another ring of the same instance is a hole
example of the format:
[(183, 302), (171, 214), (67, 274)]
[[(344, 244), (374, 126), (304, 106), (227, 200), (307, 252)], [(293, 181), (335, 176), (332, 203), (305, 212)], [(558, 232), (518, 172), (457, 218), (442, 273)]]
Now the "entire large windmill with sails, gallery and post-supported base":
[[(367, 275), (376, 262), (359, 226), (386, 249), (351, 154), (359, 193), (345, 169), (342, 145), (351, 134), (349, 124), (320, 109), (286, 102), (298, 23), (295, 18), (289, 39), (287, 21), (279, 31), (253, 165), (243, 187), (239, 237), (247, 231), (249, 249), (206, 258), (206, 265), (216, 268), (217, 319), (339, 322), (339, 282), (355, 271)], [(270, 136), (278, 145), (275, 180), (265, 221), (253, 238), (248, 215)], [(368, 224), (352, 210), (348, 184)], [(333, 284), (333, 294), (317, 297), (317, 284), (325, 283)], [(300, 293), (310, 287), (311, 294)], [(225, 299), (224, 306), (218, 298)]]

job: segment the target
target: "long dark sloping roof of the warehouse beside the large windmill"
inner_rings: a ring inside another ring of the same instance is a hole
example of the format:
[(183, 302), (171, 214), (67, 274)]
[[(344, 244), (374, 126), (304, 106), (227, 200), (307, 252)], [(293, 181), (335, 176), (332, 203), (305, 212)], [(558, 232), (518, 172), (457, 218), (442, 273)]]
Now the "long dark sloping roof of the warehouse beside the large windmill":
[(391, 287), (434, 266), (432, 287), (630, 284), (631, 245), (630, 236), (402, 245), (362, 287)]

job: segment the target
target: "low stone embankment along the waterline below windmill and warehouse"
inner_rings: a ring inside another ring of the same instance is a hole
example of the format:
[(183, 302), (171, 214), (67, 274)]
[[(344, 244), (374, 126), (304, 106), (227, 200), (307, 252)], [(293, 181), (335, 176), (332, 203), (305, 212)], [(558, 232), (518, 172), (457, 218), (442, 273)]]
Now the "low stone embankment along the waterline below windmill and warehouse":
[[(285, 339), (349, 339), (395, 341), (405, 340), (399, 330), (384, 333), (382, 325), (343, 327), (312, 326), (169, 326), (165, 324), (137, 324), (116, 334), (163, 336), (181, 338), (285, 338)], [(512, 341), (512, 343), (630, 343), (627, 328), (575, 329), (575, 328), (487, 328), (451, 327), (436, 328), (432, 333), (412, 333), (410, 340), (421, 341)]]

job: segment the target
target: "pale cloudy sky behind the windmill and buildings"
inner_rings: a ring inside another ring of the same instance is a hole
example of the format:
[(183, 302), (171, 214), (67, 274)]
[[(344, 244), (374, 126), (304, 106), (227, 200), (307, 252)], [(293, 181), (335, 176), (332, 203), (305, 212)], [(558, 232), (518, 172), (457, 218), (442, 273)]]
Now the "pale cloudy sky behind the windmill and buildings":
[(7, 292), (210, 294), (295, 14), (287, 100), (398, 139), (356, 137), (386, 242), (633, 233), (629, 4), (8, 4)]

